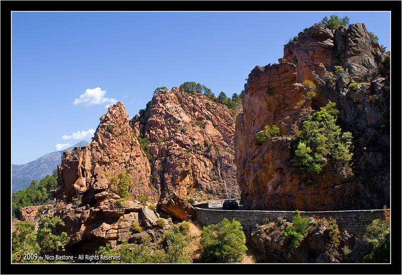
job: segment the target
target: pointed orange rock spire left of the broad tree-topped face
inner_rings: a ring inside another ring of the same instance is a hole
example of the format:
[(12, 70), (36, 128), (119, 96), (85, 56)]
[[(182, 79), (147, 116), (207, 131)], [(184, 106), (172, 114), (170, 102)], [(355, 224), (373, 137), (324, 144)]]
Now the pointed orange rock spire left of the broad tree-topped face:
[[(149, 184), (150, 164), (134, 131), (123, 104), (118, 102), (110, 106), (108, 112), (100, 117), (93, 141), (86, 147), (63, 153), (57, 176), (59, 198), (69, 202), (86, 192), (106, 191), (108, 188), (116, 192), (116, 177), (126, 172), (131, 178), (131, 199), (147, 196), (156, 201), (157, 192)], [(107, 179), (113, 178), (115, 181), (108, 186)]]

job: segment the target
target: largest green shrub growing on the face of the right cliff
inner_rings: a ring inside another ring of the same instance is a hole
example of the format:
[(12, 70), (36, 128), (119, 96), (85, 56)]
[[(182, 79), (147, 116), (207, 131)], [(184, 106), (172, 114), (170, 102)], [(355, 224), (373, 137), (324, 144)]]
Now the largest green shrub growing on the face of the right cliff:
[(328, 103), (303, 122), (296, 134), (296, 156), (299, 170), (320, 174), (329, 165), (346, 166), (352, 159), (352, 134), (336, 125), (336, 104)]

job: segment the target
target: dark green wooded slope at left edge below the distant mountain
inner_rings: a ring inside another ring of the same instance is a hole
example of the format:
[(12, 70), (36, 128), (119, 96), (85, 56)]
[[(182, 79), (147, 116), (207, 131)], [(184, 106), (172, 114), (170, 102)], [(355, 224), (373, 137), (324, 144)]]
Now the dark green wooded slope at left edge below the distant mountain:
[(32, 181), (27, 189), (20, 190), (12, 195), (12, 213), (19, 217), (20, 210), (26, 206), (41, 205), (51, 199), (49, 192), (57, 189), (57, 170), (52, 176), (46, 176), (39, 182)]

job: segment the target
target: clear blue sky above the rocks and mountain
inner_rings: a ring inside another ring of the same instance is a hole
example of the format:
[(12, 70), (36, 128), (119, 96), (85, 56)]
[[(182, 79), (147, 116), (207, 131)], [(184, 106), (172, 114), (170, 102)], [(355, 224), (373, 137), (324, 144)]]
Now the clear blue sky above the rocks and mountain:
[(256, 65), (276, 63), (331, 14), (364, 23), (390, 50), (389, 13), (14, 12), (12, 163), (89, 141), (107, 104), (122, 101), (131, 118), (159, 86), (239, 93)]

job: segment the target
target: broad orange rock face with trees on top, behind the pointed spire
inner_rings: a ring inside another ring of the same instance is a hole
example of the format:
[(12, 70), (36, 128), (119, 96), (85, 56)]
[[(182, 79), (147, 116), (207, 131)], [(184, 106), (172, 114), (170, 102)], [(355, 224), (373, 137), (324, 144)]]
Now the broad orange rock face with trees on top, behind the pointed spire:
[(238, 197), (234, 113), (203, 94), (162, 90), (132, 120), (149, 140), (159, 197), (197, 200)]

